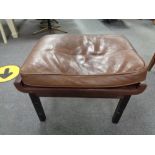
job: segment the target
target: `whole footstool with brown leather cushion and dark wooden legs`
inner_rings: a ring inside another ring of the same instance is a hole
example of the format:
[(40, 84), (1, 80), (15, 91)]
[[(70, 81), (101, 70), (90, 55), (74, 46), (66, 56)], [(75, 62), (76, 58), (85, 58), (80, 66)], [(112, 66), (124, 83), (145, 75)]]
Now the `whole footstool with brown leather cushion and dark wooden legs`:
[(40, 121), (39, 97), (119, 98), (118, 123), (131, 97), (142, 93), (146, 65), (132, 45), (115, 35), (47, 35), (32, 49), (15, 80), (28, 93)]

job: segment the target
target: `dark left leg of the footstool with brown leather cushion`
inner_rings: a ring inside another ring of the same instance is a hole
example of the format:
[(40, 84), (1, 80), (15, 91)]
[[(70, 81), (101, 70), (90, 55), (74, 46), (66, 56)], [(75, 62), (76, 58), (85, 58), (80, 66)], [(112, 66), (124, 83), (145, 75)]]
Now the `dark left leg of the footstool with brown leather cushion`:
[(44, 113), (44, 109), (42, 107), (42, 104), (40, 102), (40, 99), (38, 96), (36, 96), (35, 94), (31, 94), (29, 93), (29, 96), (31, 98), (31, 101), (33, 103), (33, 106), (37, 112), (37, 115), (40, 119), (40, 121), (45, 121), (46, 120), (46, 116), (45, 116), (45, 113)]

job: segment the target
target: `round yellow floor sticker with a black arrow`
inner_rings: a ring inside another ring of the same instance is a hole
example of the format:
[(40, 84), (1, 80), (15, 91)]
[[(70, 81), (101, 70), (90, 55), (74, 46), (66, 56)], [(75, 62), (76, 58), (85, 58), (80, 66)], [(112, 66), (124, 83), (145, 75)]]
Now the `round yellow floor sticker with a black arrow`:
[(7, 82), (18, 76), (20, 68), (15, 65), (0, 67), (0, 82)]

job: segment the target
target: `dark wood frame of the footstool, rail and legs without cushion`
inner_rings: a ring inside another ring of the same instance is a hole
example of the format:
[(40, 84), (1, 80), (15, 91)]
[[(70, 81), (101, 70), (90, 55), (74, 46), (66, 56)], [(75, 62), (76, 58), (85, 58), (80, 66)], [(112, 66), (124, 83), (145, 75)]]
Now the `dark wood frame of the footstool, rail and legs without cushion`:
[(24, 93), (28, 93), (40, 121), (45, 121), (46, 116), (39, 97), (88, 97), (88, 98), (120, 98), (117, 108), (112, 117), (113, 123), (118, 123), (123, 111), (131, 97), (142, 93), (146, 84), (134, 84), (117, 88), (47, 88), (27, 86), (22, 82), (19, 75), (15, 87)]

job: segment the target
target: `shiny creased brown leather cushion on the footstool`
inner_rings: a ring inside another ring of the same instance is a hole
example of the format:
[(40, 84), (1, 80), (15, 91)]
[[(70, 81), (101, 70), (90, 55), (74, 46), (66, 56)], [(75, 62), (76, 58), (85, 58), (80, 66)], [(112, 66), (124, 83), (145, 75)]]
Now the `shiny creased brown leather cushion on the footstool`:
[(47, 35), (21, 67), (24, 84), (119, 87), (144, 81), (146, 66), (131, 44), (112, 35)]

